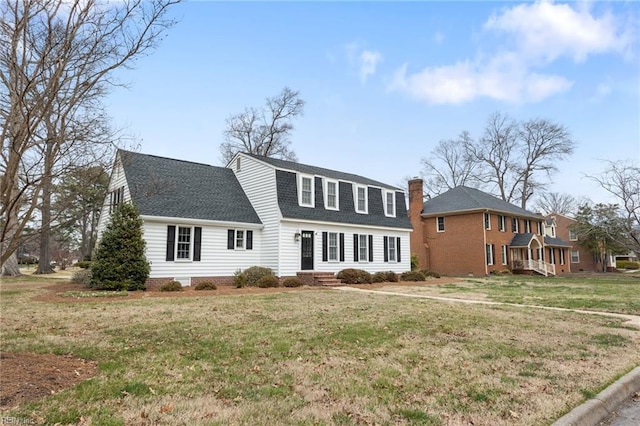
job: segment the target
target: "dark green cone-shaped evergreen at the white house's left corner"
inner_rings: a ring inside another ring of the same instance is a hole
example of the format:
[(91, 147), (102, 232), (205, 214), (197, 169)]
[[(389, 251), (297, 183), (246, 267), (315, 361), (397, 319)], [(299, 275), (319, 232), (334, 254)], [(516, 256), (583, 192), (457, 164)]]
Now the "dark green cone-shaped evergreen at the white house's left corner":
[(142, 218), (130, 203), (112, 214), (91, 264), (90, 287), (102, 290), (144, 290), (151, 266), (145, 257)]

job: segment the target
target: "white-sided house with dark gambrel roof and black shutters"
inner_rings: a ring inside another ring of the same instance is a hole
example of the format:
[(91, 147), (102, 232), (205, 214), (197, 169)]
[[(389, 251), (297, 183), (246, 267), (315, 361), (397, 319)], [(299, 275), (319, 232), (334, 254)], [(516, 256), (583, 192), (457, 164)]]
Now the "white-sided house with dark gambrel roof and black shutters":
[(345, 268), (410, 269), (404, 192), (349, 173), (245, 153), (215, 167), (121, 150), (100, 230), (125, 201), (144, 221), (150, 286), (230, 282), (251, 266), (308, 283)]

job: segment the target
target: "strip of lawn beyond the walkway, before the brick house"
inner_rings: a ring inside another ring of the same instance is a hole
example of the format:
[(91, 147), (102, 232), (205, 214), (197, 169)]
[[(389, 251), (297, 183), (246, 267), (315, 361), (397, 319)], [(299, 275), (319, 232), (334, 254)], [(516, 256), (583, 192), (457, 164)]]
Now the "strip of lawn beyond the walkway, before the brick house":
[(524, 305), (640, 315), (640, 273), (540, 277), (512, 275), (466, 278), (459, 283), (404, 289), (405, 292)]

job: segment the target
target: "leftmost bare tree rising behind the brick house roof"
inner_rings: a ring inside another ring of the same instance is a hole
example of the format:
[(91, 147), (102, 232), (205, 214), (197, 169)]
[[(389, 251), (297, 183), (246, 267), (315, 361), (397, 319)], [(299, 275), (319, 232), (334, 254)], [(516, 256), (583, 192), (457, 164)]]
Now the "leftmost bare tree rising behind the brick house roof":
[(462, 132), (458, 139), (443, 140), (431, 151), (429, 158), (422, 158), (422, 177), (430, 196), (439, 195), (456, 186), (476, 187), (477, 163), (469, 156), (467, 146), (473, 144), (469, 132)]

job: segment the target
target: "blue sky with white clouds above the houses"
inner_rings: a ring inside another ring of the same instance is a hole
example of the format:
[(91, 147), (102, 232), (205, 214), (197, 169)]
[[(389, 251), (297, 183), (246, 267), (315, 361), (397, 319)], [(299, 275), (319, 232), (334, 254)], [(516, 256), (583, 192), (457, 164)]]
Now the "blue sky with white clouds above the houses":
[(221, 165), (225, 120), (287, 86), (306, 102), (300, 162), (390, 184), (493, 112), (570, 131), (551, 191), (609, 201), (584, 175), (640, 165), (635, 1), (187, 2), (171, 16), (108, 100), (143, 153)]

